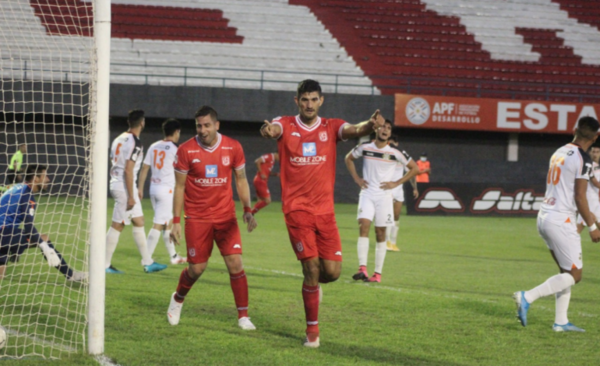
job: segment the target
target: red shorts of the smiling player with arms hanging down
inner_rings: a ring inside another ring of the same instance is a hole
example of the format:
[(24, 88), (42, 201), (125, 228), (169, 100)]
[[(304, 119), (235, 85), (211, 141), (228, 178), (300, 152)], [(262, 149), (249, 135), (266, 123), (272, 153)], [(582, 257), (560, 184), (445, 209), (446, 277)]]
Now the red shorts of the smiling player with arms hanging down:
[(242, 236), (236, 219), (219, 223), (185, 220), (185, 241), (188, 262), (192, 264), (208, 262), (213, 242), (222, 256), (242, 254)]

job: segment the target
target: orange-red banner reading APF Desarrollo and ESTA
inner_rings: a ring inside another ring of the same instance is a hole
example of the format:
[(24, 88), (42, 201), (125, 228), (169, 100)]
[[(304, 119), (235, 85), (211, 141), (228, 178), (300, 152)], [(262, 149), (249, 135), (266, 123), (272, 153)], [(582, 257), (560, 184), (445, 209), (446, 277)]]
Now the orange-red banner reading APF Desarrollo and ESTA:
[(600, 104), (396, 94), (395, 125), (411, 128), (572, 134)]

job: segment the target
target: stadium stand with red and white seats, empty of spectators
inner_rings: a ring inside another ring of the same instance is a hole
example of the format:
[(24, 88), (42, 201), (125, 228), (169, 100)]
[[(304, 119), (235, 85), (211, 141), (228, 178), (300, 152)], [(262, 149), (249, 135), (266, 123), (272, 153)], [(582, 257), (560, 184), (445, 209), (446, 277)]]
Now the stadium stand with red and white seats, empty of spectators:
[[(26, 52), (89, 22), (59, 10), (91, 0), (21, 1), (28, 24), (5, 41)], [(600, 10), (584, 0), (116, 0), (112, 16), (113, 83), (293, 90), (314, 77), (344, 93), (565, 101), (600, 88)]]

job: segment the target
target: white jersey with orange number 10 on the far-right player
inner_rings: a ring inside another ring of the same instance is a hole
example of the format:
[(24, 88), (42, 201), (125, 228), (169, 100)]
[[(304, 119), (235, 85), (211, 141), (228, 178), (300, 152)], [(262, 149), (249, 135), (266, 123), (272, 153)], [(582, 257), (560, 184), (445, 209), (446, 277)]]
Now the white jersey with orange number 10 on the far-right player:
[(539, 215), (556, 222), (575, 220), (575, 180), (589, 181), (591, 172), (592, 159), (578, 145), (570, 143), (556, 150), (550, 159), (546, 195)]

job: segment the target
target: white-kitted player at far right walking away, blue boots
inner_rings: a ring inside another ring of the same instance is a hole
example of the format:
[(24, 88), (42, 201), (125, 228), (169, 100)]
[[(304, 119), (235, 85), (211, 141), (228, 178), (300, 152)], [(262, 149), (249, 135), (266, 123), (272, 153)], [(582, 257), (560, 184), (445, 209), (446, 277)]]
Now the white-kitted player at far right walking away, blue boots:
[(600, 230), (586, 196), (592, 160), (585, 152), (598, 138), (598, 128), (600, 124), (595, 118), (580, 118), (573, 142), (556, 150), (550, 159), (546, 194), (538, 213), (537, 227), (560, 274), (548, 278), (534, 289), (514, 293), (517, 318), (523, 326), (527, 326), (527, 311), (531, 303), (555, 294), (556, 315), (552, 329), (555, 332), (584, 331), (569, 322), (567, 310), (571, 287), (581, 281), (583, 267), (581, 237), (575, 224), (577, 212), (587, 224), (592, 241), (600, 241)]

